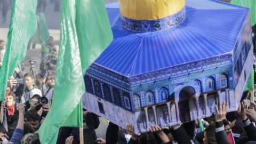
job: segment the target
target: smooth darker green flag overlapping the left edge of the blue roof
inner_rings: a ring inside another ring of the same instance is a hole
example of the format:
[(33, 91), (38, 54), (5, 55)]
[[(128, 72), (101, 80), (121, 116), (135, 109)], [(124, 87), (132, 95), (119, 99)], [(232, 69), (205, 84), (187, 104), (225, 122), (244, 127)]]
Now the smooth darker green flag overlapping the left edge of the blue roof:
[(76, 0), (76, 3), (76, 28), (79, 29), (77, 36), (80, 53), (83, 54), (82, 69), (85, 73), (112, 41), (113, 34), (104, 0)]

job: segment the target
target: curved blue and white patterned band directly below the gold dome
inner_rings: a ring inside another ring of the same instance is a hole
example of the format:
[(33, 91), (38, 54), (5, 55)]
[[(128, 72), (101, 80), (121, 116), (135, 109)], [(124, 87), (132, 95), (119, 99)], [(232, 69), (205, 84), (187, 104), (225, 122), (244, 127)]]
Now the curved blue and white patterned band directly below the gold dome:
[(122, 22), (124, 28), (134, 32), (150, 32), (170, 29), (178, 26), (186, 19), (186, 7), (184, 7), (178, 13), (175, 13), (169, 17), (158, 20), (134, 20), (125, 18), (122, 16)]

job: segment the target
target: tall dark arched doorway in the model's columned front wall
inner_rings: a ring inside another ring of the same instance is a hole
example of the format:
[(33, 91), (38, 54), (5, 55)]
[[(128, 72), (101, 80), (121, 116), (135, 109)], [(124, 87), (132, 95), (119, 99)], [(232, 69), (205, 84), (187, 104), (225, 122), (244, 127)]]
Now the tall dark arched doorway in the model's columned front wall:
[(179, 114), (181, 122), (191, 121), (189, 99), (195, 94), (195, 89), (191, 86), (183, 87), (179, 94)]

